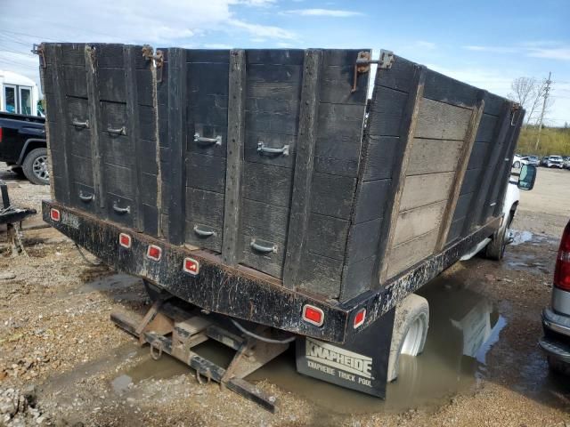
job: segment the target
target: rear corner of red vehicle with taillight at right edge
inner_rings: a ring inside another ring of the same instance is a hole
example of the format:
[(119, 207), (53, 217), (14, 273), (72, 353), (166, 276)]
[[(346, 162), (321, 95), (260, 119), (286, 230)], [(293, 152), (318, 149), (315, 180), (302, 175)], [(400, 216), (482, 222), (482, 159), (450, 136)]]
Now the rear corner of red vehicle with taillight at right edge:
[(550, 307), (542, 310), (544, 336), (539, 345), (550, 369), (570, 375), (570, 222), (562, 234)]

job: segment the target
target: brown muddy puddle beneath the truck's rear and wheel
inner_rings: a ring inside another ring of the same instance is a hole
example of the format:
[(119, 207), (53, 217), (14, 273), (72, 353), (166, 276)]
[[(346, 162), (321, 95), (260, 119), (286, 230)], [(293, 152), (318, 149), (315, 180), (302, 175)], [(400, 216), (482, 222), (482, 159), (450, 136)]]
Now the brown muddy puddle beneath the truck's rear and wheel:
[[(403, 357), (401, 375), (388, 384), (386, 400), (297, 374), (293, 348), (249, 375), (248, 380), (274, 383), (284, 391), (337, 414), (439, 407), (453, 395), (470, 390), (479, 378), (485, 377), (485, 355), (499, 340), (507, 322), (485, 297), (450, 278), (434, 280), (419, 294), (430, 304), (426, 347), (418, 358)], [(224, 367), (232, 359), (232, 351), (215, 342), (206, 342), (195, 350)], [(121, 394), (132, 383), (189, 372), (188, 367), (175, 359), (163, 357), (155, 361), (145, 357), (134, 367), (119, 372), (112, 380), (111, 388)]]

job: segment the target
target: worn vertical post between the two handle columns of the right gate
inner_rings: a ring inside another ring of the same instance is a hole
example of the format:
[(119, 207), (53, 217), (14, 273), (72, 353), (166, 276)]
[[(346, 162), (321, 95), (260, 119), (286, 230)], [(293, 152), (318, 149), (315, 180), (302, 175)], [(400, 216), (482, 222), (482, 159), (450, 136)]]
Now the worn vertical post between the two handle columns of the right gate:
[(224, 242), (222, 259), (236, 265), (240, 251), (240, 203), (245, 142), (246, 53), (230, 52), (227, 162), (225, 173)]

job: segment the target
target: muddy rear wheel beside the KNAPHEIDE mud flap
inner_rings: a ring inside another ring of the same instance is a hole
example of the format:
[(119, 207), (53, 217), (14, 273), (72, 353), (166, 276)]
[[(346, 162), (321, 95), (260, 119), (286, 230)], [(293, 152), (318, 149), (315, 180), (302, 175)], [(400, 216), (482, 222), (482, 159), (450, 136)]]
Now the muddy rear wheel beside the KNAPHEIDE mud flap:
[(412, 357), (424, 350), (429, 327), (428, 300), (416, 295), (408, 295), (395, 309), (394, 329), (388, 359), (387, 382), (398, 377), (400, 356)]

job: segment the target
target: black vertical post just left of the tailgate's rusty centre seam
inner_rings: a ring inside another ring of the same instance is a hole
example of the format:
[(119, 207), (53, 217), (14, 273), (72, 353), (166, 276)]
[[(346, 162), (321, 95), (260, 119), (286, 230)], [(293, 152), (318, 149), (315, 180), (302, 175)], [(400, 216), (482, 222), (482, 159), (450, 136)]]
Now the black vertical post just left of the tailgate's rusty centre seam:
[[(139, 118), (139, 100), (136, 85), (136, 65), (135, 60), (140, 49), (133, 45), (123, 46), (123, 58), (125, 61), (125, 92), (126, 92), (126, 136), (133, 147), (133, 169), (131, 176), (134, 186), (134, 205), (136, 206), (136, 216), (134, 225), (137, 230), (144, 230), (143, 209), (142, 209), (142, 172), (141, 172), (141, 147)], [(158, 201), (158, 200), (157, 200)]]

